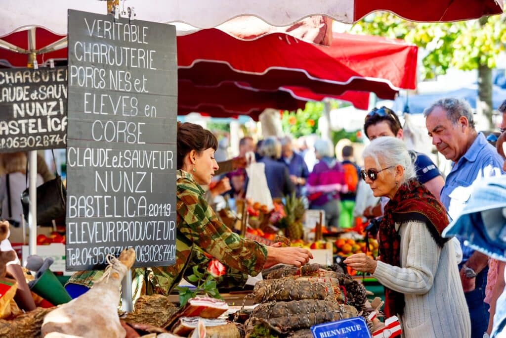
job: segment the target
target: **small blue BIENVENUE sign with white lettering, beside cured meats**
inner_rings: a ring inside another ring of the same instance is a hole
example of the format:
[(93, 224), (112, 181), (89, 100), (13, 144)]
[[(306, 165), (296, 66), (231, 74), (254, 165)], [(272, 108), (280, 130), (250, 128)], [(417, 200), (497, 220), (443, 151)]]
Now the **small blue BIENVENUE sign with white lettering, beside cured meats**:
[(315, 338), (371, 338), (367, 324), (362, 317), (353, 317), (336, 322), (311, 326)]

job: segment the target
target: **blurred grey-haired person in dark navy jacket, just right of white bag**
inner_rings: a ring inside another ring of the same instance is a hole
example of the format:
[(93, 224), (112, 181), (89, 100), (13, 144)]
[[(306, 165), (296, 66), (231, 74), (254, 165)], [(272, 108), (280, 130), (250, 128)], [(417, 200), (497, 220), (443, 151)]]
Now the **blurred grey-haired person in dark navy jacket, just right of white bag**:
[(278, 162), (281, 158), (281, 143), (276, 137), (268, 137), (262, 142), (260, 151), (263, 157), (258, 162), (265, 164), (267, 186), (272, 198), (291, 195), (295, 191), (295, 187), (290, 180), (288, 168)]

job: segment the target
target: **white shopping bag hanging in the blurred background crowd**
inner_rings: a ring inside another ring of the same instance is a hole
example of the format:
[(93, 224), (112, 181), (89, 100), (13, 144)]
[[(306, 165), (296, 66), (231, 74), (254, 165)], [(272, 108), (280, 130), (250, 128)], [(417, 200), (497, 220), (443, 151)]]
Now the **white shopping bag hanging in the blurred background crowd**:
[(259, 202), (261, 205), (266, 205), (267, 210), (272, 210), (274, 204), (272, 203), (271, 192), (267, 186), (265, 164), (251, 160), (251, 163), (246, 167), (246, 173), (248, 174), (246, 200), (251, 199), (254, 203)]

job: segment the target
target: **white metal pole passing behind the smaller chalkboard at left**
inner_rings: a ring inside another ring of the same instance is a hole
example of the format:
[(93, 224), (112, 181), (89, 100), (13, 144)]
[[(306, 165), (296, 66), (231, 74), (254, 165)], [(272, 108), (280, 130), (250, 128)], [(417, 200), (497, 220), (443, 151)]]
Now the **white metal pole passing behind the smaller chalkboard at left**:
[[(28, 67), (37, 68), (35, 54), (35, 28), (28, 30), (28, 50), (31, 52), (28, 58)], [(30, 211), (28, 213), (28, 248), (31, 255), (37, 253), (37, 151), (28, 152)]]

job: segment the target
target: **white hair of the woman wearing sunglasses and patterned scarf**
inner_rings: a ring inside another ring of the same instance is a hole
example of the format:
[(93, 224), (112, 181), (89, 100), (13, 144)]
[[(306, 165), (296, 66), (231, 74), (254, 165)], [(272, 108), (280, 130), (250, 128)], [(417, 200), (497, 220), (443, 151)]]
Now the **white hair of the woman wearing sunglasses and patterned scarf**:
[[(364, 148), (362, 157), (364, 159), (371, 157), (376, 162), (378, 169), (395, 167), (397, 165), (403, 167), (404, 177), (400, 182), (401, 184), (416, 178), (416, 170), (411, 155), (404, 142), (397, 137), (383, 136), (375, 138)], [(393, 173), (394, 170), (395, 168), (391, 168), (385, 170), (385, 172)]]

